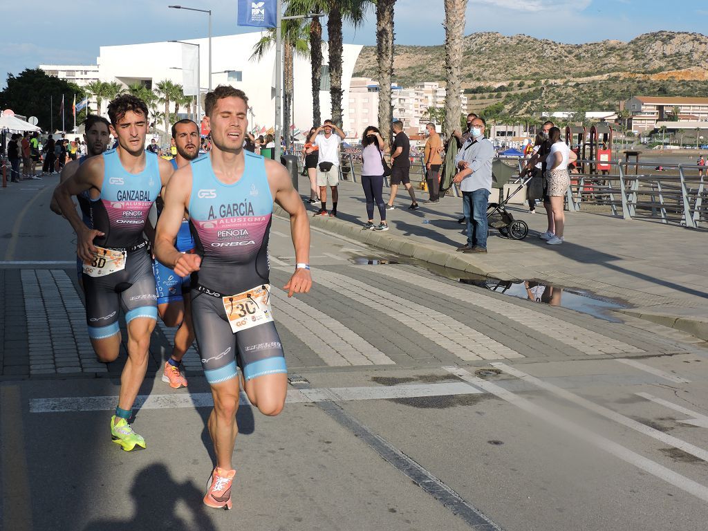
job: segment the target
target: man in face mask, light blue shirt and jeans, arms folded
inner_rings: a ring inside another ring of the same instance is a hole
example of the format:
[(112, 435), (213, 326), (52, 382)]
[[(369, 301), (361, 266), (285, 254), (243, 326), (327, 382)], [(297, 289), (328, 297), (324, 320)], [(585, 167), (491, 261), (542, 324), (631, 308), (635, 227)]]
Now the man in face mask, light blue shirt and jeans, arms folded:
[(464, 218), (467, 221), (467, 244), (458, 247), (463, 253), (485, 253), (487, 239), (487, 201), (491, 193), (491, 162), (494, 146), (484, 137), (486, 122), (472, 120), (472, 130), (455, 158), (459, 173), (452, 181), (462, 189)]

